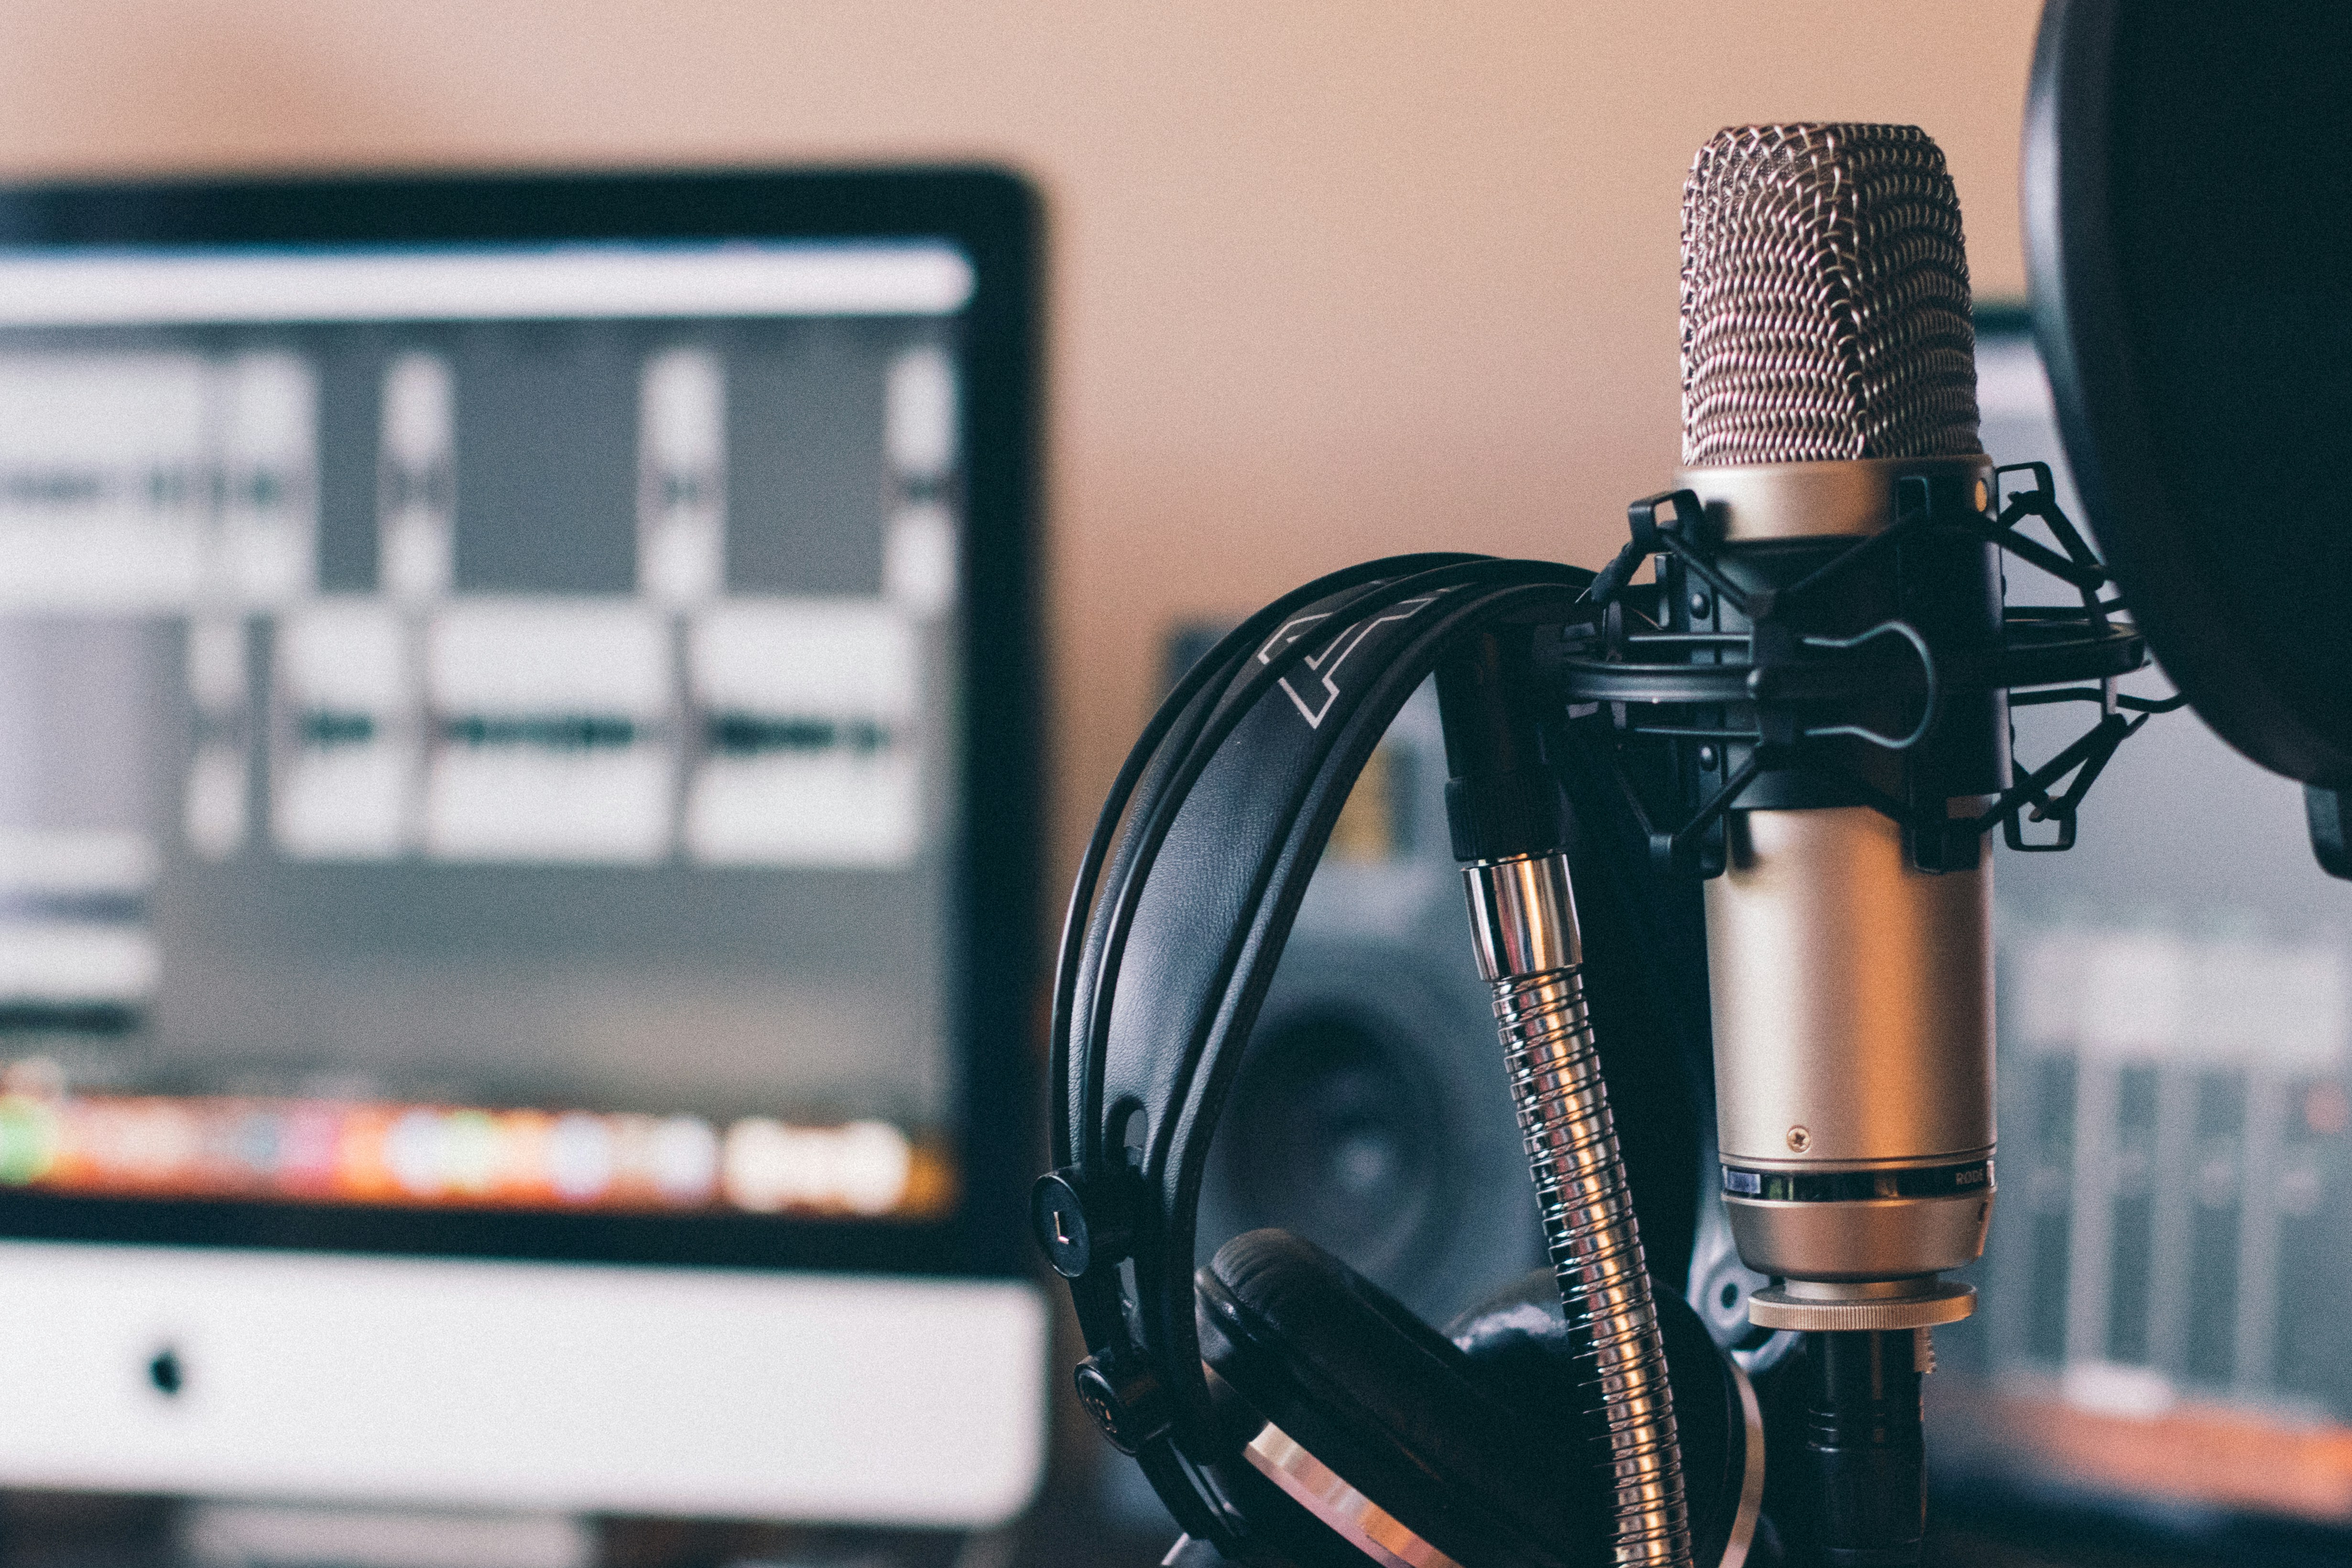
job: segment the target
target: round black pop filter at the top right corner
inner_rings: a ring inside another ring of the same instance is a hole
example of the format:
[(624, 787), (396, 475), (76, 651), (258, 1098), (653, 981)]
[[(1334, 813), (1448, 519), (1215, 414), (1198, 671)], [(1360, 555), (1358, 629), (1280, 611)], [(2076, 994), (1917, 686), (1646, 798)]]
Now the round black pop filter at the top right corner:
[(2352, 790), (2352, 5), (2051, 0), (2025, 244), (2131, 614), (2206, 724), (2314, 785), (2328, 860), (2321, 813)]

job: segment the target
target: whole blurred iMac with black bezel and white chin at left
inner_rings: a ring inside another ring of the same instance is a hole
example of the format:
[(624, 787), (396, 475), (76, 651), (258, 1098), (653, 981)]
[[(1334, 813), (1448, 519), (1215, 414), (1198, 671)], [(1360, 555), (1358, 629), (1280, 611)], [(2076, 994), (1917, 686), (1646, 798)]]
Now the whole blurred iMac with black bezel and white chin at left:
[(1030, 1497), (1037, 209), (0, 193), (0, 1483)]

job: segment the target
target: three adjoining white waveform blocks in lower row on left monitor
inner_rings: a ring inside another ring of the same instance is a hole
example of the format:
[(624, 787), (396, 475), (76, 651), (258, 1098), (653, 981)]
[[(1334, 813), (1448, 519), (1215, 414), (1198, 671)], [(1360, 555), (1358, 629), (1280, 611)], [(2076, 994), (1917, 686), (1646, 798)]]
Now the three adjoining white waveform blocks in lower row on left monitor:
[(906, 614), (736, 599), (680, 630), (586, 597), (289, 611), (273, 663), (280, 849), (616, 865), (903, 865), (917, 851)]

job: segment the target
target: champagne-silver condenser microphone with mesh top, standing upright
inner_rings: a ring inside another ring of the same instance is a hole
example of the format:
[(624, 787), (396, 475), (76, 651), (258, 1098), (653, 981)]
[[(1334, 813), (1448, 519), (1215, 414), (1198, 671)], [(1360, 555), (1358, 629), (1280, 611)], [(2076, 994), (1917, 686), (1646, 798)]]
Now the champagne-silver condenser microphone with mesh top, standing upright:
[(1922, 842), (1886, 799), (1964, 820), (2009, 785), (2002, 691), (1938, 691), (1926, 649), (1999, 646), (1999, 571), (1980, 541), (1912, 536), (1802, 611), (1795, 590), (1931, 505), (1987, 510), (1959, 202), (1924, 132), (1759, 125), (1698, 153), (1682, 411), (1677, 484), (1750, 611), (1693, 583), (1691, 625), (1785, 621), (1783, 644), (1882, 672), (1867, 712), (1783, 736), (1842, 750), (1835, 773), (1755, 771), (1705, 924), (1724, 1204), (1773, 1276), (1750, 1314), (1813, 1335), (1818, 1549), (1903, 1561), (1924, 1331), (1969, 1314), (1943, 1272), (1983, 1253), (1992, 1211), (1992, 872), (1973, 830)]

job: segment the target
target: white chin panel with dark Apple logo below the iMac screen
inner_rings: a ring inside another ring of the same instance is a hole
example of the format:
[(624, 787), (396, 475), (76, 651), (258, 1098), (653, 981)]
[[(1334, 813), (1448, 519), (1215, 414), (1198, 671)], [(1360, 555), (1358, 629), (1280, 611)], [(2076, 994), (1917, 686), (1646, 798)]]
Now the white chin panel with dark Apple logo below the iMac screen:
[(21, 1488), (948, 1533), (1044, 1472), (1025, 1279), (0, 1241), (0, 1324)]

